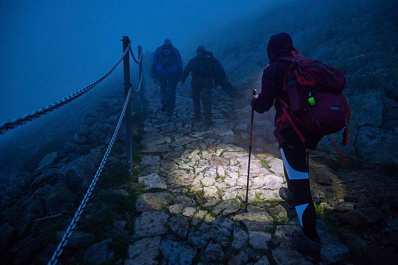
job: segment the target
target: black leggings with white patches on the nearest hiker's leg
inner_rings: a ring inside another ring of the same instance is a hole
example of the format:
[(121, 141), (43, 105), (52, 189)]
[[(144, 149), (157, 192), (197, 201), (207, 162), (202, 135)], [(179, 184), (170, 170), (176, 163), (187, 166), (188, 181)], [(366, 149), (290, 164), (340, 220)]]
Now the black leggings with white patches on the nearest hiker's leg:
[(298, 220), (304, 235), (316, 241), (315, 207), (311, 198), (308, 175), (308, 157), (303, 144), (284, 143), (281, 154), (288, 189), (293, 192)]

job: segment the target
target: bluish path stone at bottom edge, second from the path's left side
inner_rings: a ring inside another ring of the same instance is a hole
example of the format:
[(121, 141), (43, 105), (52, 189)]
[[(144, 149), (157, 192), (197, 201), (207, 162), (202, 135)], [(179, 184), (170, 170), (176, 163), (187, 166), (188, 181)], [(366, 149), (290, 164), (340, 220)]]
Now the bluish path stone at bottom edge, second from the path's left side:
[(173, 265), (191, 265), (197, 254), (196, 249), (170, 239), (163, 239), (160, 249), (166, 261)]

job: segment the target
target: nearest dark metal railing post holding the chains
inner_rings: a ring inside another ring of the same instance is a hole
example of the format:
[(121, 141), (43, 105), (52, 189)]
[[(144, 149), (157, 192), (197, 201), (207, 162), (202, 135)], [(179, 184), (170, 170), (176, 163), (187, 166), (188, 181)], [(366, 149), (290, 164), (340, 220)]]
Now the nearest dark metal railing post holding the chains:
[[(130, 44), (130, 39), (128, 36), (122, 37), (123, 42), (123, 53)], [(130, 89), (130, 55), (129, 52), (123, 58), (123, 75), (124, 75), (124, 99), (126, 99), (128, 90)], [(125, 125), (126, 125), (126, 160), (127, 160), (127, 170), (131, 172), (133, 164), (133, 143), (132, 143), (132, 132), (131, 132), (131, 97), (128, 100), (126, 114), (124, 115)]]

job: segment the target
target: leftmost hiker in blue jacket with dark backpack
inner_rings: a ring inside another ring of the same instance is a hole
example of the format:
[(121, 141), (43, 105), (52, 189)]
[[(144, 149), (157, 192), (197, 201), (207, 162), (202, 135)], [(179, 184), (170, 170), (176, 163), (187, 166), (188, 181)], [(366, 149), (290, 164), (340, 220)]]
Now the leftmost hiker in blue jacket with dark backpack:
[(183, 60), (180, 52), (169, 39), (158, 47), (153, 55), (152, 77), (154, 83), (160, 84), (160, 100), (162, 112), (172, 117), (176, 105), (176, 90), (178, 80), (183, 72)]

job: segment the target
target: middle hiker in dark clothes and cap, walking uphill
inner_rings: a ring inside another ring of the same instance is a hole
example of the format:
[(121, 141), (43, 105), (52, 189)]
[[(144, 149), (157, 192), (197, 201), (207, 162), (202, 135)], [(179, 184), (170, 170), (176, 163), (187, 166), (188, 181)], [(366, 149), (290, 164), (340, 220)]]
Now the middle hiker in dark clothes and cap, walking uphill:
[(213, 66), (216, 59), (213, 53), (206, 51), (204, 46), (199, 46), (197, 56), (192, 58), (185, 66), (181, 76), (181, 86), (184, 86), (185, 80), (191, 73), (192, 81), (192, 99), (194, 100), (194, 121), (199, 122), (200, 118), (200, 100), (203, 105), (204, 120), (207, 126), (211, 126), (211, 90), (213, 88)]

